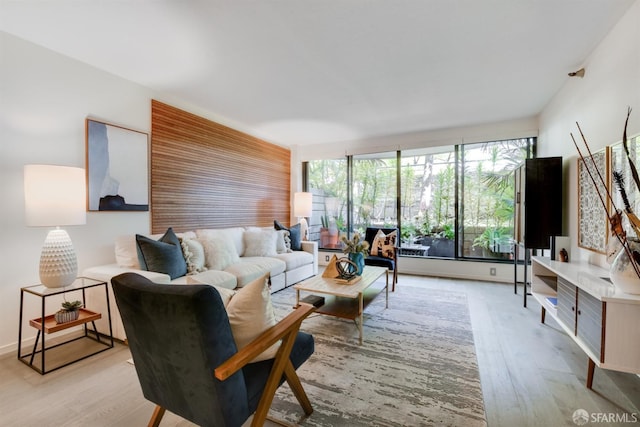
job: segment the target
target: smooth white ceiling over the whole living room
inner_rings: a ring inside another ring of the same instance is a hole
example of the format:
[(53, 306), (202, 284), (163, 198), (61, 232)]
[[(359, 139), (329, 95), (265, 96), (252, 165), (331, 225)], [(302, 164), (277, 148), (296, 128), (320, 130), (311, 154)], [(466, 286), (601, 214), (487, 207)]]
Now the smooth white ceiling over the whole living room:
[(304, 145), (534, 117), (633, 2), (0, 0), (0, 30)]

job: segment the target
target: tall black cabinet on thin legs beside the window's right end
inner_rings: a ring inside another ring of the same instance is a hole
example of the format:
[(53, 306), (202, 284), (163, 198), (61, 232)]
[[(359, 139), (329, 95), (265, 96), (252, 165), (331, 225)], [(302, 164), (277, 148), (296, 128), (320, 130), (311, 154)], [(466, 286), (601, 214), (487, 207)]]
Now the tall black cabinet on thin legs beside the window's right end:
[(551, 249), (562, 234), (562, 157), (527, 159), (515, 173), (516, 254), (514, 292), (517, 292), (518, 252), (524, 250), (524, 306), (527, 306), (527, 266), (531, 250)]

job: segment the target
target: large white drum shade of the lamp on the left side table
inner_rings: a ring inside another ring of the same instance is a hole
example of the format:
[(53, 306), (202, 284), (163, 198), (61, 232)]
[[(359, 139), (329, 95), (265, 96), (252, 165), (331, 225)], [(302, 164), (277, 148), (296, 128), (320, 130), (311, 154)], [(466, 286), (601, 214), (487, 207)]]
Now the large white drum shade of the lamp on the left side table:
[(81, 225), (87, 222), (84, 169), (25, 165), (25, 220), (29, 226)]

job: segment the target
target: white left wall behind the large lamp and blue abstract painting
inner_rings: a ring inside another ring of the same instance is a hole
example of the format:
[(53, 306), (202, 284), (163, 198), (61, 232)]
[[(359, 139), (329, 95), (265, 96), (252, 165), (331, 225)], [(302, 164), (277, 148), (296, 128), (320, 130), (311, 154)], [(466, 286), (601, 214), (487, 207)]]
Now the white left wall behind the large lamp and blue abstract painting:
[[(23, 165), (85, 167), (85, 118), (149, 133), (152, 98), (204, 114), (3, 32), (0, 52), (0, 234), (5, 242), (0, 257), (1, 354), (17, 348), (20, 288), (39, 283), (40, 249), (48, 231), (24, 225)], [(149, 228), (148, 212), (88, 213), (86, 225), (66, 227), (80, 271), (113, 262), (115, 236), (148, 233)], [(32, 298), (27, 321), (39, 317), (39, 301)], [(56, 305), (47, 311), (55, 311)], [(24, 331), (26, 337), (35, 336), (29, 326)]]

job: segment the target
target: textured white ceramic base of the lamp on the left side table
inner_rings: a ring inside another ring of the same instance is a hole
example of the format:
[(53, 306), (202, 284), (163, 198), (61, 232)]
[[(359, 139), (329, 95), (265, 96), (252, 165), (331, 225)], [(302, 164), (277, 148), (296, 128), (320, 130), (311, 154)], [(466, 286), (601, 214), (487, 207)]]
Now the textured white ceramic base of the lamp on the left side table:
[(51, 230), (40, 254), (40, 281), (47, 288), (61, 288), (73, 283), (77, 274), (78, 261), (69, 234), (59, 228)]

